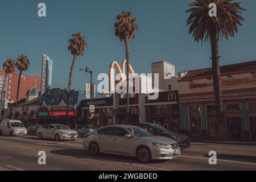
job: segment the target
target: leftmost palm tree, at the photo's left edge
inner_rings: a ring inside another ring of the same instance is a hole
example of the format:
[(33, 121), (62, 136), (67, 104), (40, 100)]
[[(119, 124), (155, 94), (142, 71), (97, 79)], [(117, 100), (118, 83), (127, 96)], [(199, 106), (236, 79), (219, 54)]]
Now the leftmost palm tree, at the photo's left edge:
[(2, 119), (5, 111), (5, 85), (6, 85), (6, 78), (9, 74), (15, 72), (15, 62), (13, 59), (9, 58), (3, 63), (3, 71), (5, 71), (5, 80), (3, 80), (3, 88), (2, 88), (2, 103), (3, 103), (3, 114), (2, 114)]

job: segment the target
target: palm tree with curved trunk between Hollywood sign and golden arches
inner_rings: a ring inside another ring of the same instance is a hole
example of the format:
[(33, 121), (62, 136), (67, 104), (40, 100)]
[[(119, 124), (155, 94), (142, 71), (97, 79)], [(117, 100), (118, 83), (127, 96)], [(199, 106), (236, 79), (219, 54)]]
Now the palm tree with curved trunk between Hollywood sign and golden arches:
[(69, 106), (69, 94), (71, 91), (71, 84), (72, 84), (72, 75), (73, 70), (75, 68), (77, 56), (84, 55), (84, 49), (87, 47), (87, 43), (85, 38), (82, 36), (81, 33), (72, 34), (72, 39), (69, 39), (69, 46), (68, 50), (73, 55), (73, 61), (71, 64), (70, 72), (69, 72), (69, 81), (68, 81), (68, 93), (67, 93), (67, 118), (68, 118), (68, 106)]

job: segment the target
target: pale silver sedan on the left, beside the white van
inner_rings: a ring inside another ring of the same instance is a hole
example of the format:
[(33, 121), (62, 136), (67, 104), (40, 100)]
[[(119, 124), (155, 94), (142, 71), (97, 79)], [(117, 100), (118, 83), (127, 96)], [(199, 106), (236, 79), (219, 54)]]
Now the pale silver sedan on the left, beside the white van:
[(77, 132), (65, 125), (45, 125), (39, 127), (36, 135), (39, 139), (47, 138), (55, 139), (56, 141), (77, 139)]

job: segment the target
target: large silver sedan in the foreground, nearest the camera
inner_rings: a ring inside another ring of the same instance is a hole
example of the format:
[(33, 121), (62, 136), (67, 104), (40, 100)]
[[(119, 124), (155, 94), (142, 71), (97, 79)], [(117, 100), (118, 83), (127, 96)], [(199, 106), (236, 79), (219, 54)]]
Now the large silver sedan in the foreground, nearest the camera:
[(177, 142), (154, 136), (137, 126), (105, 126), (85, 134), (83, 146), (91, 155), (101, 153), (134, 156), (142, 163), (151, 159), (173, 159), (180, 155)]

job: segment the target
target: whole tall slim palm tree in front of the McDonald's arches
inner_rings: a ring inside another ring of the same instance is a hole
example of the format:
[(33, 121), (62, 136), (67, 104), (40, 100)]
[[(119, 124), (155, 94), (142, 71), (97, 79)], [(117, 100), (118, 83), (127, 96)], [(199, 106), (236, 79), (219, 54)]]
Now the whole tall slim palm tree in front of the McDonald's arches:
[(127, 122), (129, 122), (129, 73), (130, 73), (130, 48), (129, 40), (135, 38), (135, 31), (138, 30), (137, 19), (131, 17), (130, 11), (122, 11), (117, 15), (117, 22), (114, 24), (115, 36), (125, 42), (126, 52), (126, 76), (127, 76)]

